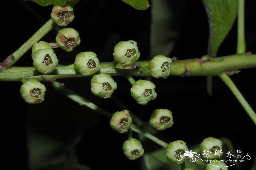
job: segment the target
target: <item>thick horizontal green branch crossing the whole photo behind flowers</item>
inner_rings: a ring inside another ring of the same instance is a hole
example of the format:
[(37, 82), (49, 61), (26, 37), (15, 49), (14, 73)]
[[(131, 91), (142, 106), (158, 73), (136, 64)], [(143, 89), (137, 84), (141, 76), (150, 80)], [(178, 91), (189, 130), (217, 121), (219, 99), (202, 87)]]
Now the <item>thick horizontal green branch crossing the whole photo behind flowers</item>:
[[(216, 58), (218, 61), (204, 61), (201, 59), (176, 60), (171, 64), (170, 76), (206, 76), (216, 75), (220, 72), (240, 70), (256, 67), (256, 55), (230, 55)], [(100, 73), (108, 73), (111, 76), (151, 76), (150, 70), (134, 71), (134, 69), (119, 69), (110, 65), (111, 62), (100, 63)], [(136, 61), (142, 67), (148, 66), (149, 61)], [(144, 67), (145, 68), (145, 67)], [(19, 81), (20, 78), (42, 80), (42, 76), (49, 79), (77, 78), (82, 77), (73, 65), (59, 67), (51, 75), (42, 75), (35, 71), (34, 67), (11, 67), (0, 72), (0, 81)]]

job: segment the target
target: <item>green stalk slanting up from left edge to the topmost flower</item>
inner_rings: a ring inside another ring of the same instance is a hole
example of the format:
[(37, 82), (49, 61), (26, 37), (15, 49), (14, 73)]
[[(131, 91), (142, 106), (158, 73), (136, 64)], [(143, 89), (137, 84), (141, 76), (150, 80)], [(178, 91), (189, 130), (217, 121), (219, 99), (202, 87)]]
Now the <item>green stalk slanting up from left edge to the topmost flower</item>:
[(39, 41), (43, 36), (46, 35), (50, 30), (53, 29), (55, 23), (52, 19), (48, 20), (41, 28), (38, 29), (37, 32), (34, 33), (22, 46), (16, 50), (14, 53), (9, 55), (1, 64), (3, 69), (7, 69), (11, 67), (14, 63), (16, 63), (37, 41)]

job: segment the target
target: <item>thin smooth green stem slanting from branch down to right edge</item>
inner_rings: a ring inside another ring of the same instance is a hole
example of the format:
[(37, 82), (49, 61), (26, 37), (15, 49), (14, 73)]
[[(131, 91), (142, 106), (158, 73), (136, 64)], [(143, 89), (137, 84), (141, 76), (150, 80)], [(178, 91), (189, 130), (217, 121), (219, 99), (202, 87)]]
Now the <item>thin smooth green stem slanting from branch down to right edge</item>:
[(247, 114), (250, 116), (252, 121), (256, 125), (256, 114), (252, 110), (252, 107), (248, 104), (248, 102), (245, 100), (244, 96), (240, 93), (236, 85), (233, 83), (233, 81), (230, 79), (230, 77), (224, 72), (219, 75), (219, 77), (222, 79), (222, 81), (229, 87), (229, 89), (233, 92), (233, 94), (236, 96), (237, 100), (240, 102), (242, 107), (244, 107), (244, 110), (247, 112)]

